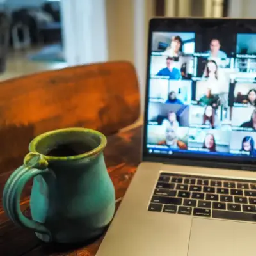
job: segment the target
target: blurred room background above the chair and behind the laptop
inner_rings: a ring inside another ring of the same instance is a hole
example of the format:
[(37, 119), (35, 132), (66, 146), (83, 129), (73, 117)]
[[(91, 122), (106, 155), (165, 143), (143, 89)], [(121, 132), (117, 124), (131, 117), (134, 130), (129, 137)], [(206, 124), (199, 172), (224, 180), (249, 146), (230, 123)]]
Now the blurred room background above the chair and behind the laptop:
[(255, 17), (255, 0), (0, 0), (0, 80), (99, 61), (127, 60), (143, 103), (148, 21)]

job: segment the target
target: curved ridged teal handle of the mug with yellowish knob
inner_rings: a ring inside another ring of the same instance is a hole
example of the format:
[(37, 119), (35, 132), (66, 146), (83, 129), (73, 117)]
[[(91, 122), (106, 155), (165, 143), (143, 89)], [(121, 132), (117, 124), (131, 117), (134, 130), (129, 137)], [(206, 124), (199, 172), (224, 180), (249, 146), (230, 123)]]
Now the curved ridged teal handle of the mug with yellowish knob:
[(10, 175), (3, 191), (3, 207), (8, 217), (17, 225), (47, 234), (52, 238), (50, 230), (38, 221), (29, 220), (20, 210), (20, 196), (26, 183), (36, 175), (55, 174), (47, 168), (48, 162), (41, 154), (29, 153), (24, 158), (24, 164)]

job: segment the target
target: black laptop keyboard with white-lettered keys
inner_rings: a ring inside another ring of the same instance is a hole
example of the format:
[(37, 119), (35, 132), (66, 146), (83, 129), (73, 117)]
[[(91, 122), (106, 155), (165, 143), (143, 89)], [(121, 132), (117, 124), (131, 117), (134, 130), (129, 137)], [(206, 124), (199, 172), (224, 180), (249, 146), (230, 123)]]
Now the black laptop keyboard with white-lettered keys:
[(148, 211), (256, 221), (256, 182), (161, 173)]

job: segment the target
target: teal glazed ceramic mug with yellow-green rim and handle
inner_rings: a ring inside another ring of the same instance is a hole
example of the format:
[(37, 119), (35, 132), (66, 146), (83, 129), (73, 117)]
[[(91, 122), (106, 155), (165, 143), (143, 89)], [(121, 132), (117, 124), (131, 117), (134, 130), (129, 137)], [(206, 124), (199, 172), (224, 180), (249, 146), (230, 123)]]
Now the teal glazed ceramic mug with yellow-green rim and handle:
[[(24, 164), (5, 184), (8, 217), (45, 242), (79, 243), (99, 236), (115, 212), (105, 147), (106, 137), (91, 129), (67, 128), (37, 136)], [(20, 211), (20, 195), (31, 178), (32, 220)]]

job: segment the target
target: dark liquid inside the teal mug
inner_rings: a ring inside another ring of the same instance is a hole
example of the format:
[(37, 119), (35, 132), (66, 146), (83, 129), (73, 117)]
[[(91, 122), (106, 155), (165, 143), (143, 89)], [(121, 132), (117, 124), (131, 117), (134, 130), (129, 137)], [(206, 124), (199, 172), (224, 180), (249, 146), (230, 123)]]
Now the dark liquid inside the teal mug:
[(49, 150), (47, 156), (77, 156), (93, 150), (93, 147), (82, 142), (60, 144)]

